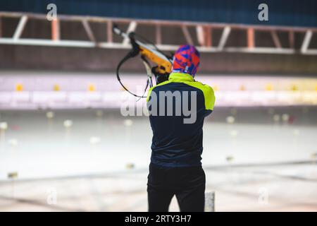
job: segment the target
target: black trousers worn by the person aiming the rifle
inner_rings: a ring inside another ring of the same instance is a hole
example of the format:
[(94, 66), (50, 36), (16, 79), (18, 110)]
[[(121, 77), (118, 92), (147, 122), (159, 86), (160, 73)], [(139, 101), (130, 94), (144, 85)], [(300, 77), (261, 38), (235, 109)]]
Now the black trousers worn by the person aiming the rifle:
[(149, 165), (149, 212), (167, 212), (175, 195), (182, 212), (203, 212), (206, 177), (199, 167), (163, 168)]

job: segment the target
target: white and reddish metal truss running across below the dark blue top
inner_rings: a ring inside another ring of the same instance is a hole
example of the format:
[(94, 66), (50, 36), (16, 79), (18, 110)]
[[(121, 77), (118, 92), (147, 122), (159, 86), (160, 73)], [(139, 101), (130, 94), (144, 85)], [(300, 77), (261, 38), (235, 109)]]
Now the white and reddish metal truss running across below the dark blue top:
[[(2, 37), (1, 35), (1, 18), (19, 18), (17, 27), (13, 37)], [(128, 25), (127, 32), (136, 30), (137, 25), (150, 25), (155, 28), (155, 44), (162, 50), (177, 49), (177, 45), (164, 44), (162, 42), (161, 28), (163, 26), (177, 26), (182, 30), (187, 43), (192, 44), (192, 34), (189, 28), (195, 28), (195, 35), (199, 42), (199, 51), (201, 52), (244, 52), (244, 53), (261, 53), (261, 54), (311, 54), (317, 55), (317, 49), (309, 49), (309, 44), (313, 37), (313, 33), (317, 32), (317, 28), (298, 28), (285, 26), (269, 26), (269, 25), (237, 25), (222, 23), (194, 23), (186, 21), (166, 21), (166, 20), (135, 20), (124, 18), (101, 18), (91, 16), (58, 16), (56, 20), (51, 20), (51, 39), (38, 38), (22, 38), (21, 35), (25, 29), (27, 20), (37, 19), (46, 20), (44, 14), (34, 13), (9, 13), (0, 12), (0, 44), (24, 44), (24, 45), (41, 45), (56, 47), (99, 47), (111, 49), (128, 49), (130, 48), (129, 40), (114, 42), (112, 34), (112, 25), (114, 23), (125, 23)], [(87, 41), (83, 40), (61, 40), (60, 24), (65, 21), (76, 21), (82, 23), (82, 29), (87, 33)], [(104, 23), (107, 33), (104, 42), (97, 42), (94, 32), (89, 23)], [(218, 43), (213, 43), (213, 29), (222, 29), (222, 34)], [(232, 30), (245, 30), (246, 43), (245, 47), (226, 47), (228, 37)], [(256, 45), (255, 32), (270, 32), (275, 47), (259, 47)], [(288, 33), (287, 48), (282, 47), (278, 32)], [(300, 49), (294, 48), (294, 34), (296, 32), (304, 33), (304, 40)]]

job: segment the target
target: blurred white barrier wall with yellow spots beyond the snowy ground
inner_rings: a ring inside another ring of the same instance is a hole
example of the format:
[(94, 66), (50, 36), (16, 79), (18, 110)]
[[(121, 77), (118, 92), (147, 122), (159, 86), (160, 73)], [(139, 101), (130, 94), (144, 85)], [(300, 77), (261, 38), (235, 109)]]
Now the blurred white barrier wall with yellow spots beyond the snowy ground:
[[(202, 75), (196, 79), (213, 87), (218, 106), (317, 105), (316, 78)], [(147, 77), (125, 74), (122, 81), (142, 95)], [(0, 109), (120, 108), (123, 101), (135, 102), (127, 94), (111, 73), (0, 72)]]

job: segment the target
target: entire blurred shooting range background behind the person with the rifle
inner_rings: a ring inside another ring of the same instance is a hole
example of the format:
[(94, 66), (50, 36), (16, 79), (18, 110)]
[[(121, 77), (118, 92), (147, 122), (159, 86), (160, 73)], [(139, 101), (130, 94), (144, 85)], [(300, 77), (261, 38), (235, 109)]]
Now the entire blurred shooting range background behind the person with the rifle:
[[(147, 210), (151, 128), (120, 112), (144, 100), (116, 80), (130, 44), (113, 24), (166, 53), (201, 52), (216, 211), (317, 210), (316, 1), (11, 0), (0, 1), (1, 211)], [(122, 81), (142, 94), (139, 58)]]

